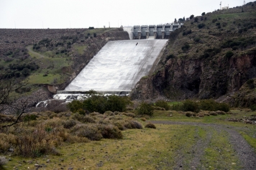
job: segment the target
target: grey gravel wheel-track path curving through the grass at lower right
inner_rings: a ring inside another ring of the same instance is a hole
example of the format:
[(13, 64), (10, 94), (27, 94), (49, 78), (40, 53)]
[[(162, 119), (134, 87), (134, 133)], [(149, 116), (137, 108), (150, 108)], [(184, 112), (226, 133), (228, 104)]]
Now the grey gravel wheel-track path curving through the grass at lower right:
[[(244, 140), (244, 138), (235, 130), (235, 128), (230, 128), (229, 126), (222, 126), (212, 123), (193, 123), (193, 122), (173, 122), (173, 121), (150, 121), (152, 123), (162, 123), (170, 125), (189, 125), (189, 126), (198, 126), (204, 128), (206, 131), (210, 128), (214, 128), (216, 131), (224, 131), (227, 133), (229, 142), (232, 144), (239, 161), (241, 162), (243, 169), (255, 170), (256, 169), (256, 154), (253, 151), (253, 148)], [(206, 138), (198, 138), (196, 144), (193, 146), (192, 151), (180, 151), (178, 156), (176, 156), (176, 166), (173, 169), (183, 169), (184, 166), (191, 167), (191, 169), (206, 169), (201, 166), (201, 159), (204, 156), (204, 149), (209, 146), (211, 140), (211, 131), (207, 131)], [(193, 159), (186, 160), (186, 154), (192, 154)]]

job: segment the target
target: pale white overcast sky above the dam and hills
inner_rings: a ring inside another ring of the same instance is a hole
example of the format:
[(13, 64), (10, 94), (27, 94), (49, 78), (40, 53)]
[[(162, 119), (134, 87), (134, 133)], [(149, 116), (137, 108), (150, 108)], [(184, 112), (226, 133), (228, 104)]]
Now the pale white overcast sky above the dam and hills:
[[(165, 24), (243, 0), (0, 0), (0, 28), (88, 28)], [(249, 1), (246, 1), (246, 3)]]

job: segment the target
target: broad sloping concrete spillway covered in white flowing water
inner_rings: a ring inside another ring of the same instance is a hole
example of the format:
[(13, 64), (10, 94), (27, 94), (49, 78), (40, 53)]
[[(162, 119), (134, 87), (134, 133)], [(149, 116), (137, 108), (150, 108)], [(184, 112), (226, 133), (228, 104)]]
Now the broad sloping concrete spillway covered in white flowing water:
[(129, 93), (140, 78), (152, 71), (166, 42), (168, 39), (108, 42), (70, 82), (65, 93), (88, 90)]

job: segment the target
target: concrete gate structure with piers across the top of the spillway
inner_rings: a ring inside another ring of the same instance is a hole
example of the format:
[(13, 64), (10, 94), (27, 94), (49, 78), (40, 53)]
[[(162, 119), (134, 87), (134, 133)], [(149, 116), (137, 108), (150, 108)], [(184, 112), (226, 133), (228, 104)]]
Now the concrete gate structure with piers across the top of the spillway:
[(124, 31), (128, 32), (130, 39), (168, 39), (170, 34), (181, 26), (183, 26), (183, 23), (135, 25), (124, 27)]

